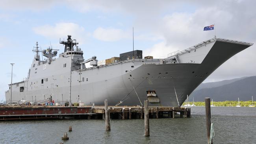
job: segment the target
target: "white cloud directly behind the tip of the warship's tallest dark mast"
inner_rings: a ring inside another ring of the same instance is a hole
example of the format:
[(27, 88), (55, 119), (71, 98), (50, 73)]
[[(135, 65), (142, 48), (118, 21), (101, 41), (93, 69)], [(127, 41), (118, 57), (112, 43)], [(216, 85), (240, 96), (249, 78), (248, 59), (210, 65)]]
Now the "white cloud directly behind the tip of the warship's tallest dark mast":
[(82, 26), (72, 22), (60, 22), (51, 25), (43, 25), (32, 28), (33, 31), (39, 35), (42, 35), (46, 38), (59, 39), (66, 37), (67, 35), (72, 35), (80, 43), (85, 40), (86, 36), (89, 35), (85, 32)]

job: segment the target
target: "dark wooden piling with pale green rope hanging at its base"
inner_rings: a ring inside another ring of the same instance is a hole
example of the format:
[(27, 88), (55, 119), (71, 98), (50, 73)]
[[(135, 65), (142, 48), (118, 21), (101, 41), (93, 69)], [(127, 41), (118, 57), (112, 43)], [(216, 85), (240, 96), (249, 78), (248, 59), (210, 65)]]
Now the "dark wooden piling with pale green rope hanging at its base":
[[(210, 98), (204, 98), (205, 101), (205, 113), (206, 113), (206, 130), (207, 130), (207, 139), (208, 144), (210, 144), (210, 131), (211, 131), (211, 100)], [(213, 143), (211, 139), (211, 144)]]

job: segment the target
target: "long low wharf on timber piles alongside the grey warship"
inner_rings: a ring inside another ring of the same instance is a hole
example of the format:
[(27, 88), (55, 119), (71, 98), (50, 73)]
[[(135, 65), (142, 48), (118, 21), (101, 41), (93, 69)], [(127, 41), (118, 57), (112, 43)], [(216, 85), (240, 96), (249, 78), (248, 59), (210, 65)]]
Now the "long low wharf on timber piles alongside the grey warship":
[[(148, 107), (150, 118), (190, 117), (186, 107)], [(144, 107), (109, 106), (111, 119), (144, 118)], [(40, 119), (105, 119), (104, 106), (1, 106), (0, 120), (40, 120)]]

